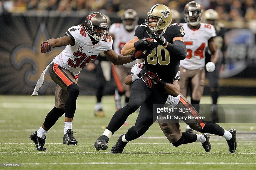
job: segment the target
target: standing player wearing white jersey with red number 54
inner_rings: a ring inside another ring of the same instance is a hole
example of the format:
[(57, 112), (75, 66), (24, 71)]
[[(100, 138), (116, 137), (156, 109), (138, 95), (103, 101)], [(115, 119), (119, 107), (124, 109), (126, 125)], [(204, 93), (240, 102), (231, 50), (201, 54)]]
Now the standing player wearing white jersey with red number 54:
[[(218, 61), (217, 46), (214, 42), (216, 36), (214, 26), (201, 23), (202, 6), (195, 1), (186, 4), (184, 9), (186, 23), (181, 24), (185, 31), (184, 42), (187, 47), (187, 57), (180, 61), (180, 92), (187, 97), (190, 90), (191, 104), (199, 112), (200, 98), (204, 92), (205, 69), (208, 72), (215, 70)], [(211, 61), (205, 65), (205, 49), (209, 48)], [(187, 127), (188, 132), (192, 132)]]

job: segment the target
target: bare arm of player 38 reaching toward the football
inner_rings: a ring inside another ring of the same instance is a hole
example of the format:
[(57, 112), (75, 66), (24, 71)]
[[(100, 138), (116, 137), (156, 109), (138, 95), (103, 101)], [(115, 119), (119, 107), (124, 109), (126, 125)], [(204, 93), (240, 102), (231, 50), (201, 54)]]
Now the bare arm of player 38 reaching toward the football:
[(122, 65), (122, 64), (130, 63), (134, 61), (132, 59), (132, 55), (128, 55), (128, 56), (118, 55), (112, 49), (108, 51), (104, 51), (104, 54), (109, 59), (109, 61), (115, 65)]

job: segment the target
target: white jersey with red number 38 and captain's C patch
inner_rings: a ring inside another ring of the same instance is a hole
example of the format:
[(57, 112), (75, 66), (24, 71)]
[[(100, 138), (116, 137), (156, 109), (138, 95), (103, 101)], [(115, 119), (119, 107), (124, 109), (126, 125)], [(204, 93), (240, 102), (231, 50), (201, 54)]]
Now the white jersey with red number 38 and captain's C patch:
[(74, 45), (67, 45), (66, 48), (57, 55), (53, 62), (70, 71), (74, 76), (78, 75), (82, 69), (93, 61), (100, 52), (112, 49), (112, 37), (109, 35), (105, 41), (99, 41), (93, 45), (92, 41), (81, 25), (70, 27), (66, 31)]

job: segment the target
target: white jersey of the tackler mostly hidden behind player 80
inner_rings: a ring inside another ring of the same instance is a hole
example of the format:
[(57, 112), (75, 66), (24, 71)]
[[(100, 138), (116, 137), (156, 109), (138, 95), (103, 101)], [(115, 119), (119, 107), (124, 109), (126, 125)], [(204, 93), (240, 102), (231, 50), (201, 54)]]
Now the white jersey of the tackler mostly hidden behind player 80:
[[(141, 72), (141, 70), (143, 69), (143, 63), (137, 63), (137, 64), (134, 64), (131, 68), (131, 72), (133, 74), (138, 74)], [(174, 80), (180, 80), (180, 73), (178, 71), (178, 73), (176, 74)], [(175, 107), (178, 103), (179, 103), (179, 100), (180, 100), (180, 95), (178, 95), (177, 97), (173, 97), (171, 95), (168, 95), (168, 98), (166, 100), (166, 107)]]

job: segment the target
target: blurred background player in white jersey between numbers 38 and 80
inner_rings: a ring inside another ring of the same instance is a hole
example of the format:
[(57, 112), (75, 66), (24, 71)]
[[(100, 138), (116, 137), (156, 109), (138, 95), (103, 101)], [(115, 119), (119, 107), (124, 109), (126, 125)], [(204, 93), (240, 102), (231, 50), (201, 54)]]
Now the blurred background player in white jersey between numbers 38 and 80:
[[(133, 9), (127, 9), (122, 16), (122, 23), (114, 23), (109, 28), (109, 34), (113, 38), (113, 49), (117, 54), (121, 55), (121, 50), (124, 44), (134, 38), (135, 28), (137, 27), (137, 13)], [(124, 79), (130, 73), (131, 66), (137, 63), (133, 61), (131, 63), (123, 65), (112, 64), (112, 72), (116, 82), (117, 88), (115, 89), (115, 106), (116, 110), (122, 107), (121, 97), (125, 95), (125, 104), (129, 102), (131, 86), (124, 83)]]

